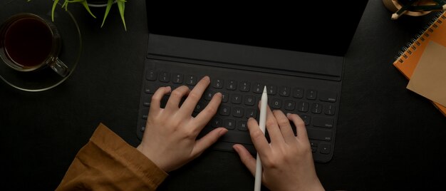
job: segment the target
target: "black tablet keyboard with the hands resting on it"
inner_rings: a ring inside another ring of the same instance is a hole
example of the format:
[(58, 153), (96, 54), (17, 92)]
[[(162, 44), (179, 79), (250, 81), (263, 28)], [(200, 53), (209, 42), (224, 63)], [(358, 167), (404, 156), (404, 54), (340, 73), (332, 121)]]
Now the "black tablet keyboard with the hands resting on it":
[[(247, 120), (250, 117), (259, 120), (258, 103), (266, 86), (268, 104), (272, 110), (296, 113), (304, 120), (314, 160), (323, 162), (326, 158), (331, 158), (339, 101), (336, 88), (326, 81), (271, 73), (259, 74), (231, 68), (185, 65), (155, 59), (147, 59), (146, 62), (138, 118), (138, 138), (142, 138), (150, 99), (157, 88), (171, 86), (173, 90), (179, 86), (188, 86), (192, 89), (203, 76), (209, 76), (211, 83), (197, 103), (193, 115), (197, 115), (206, 107), (214, 93), (222, 93), (222, 103), (199, 137), (217, 127), (229, 130), (213, 145), (214, 149), (232, 151), (234, 143), (241, 143), (252, 155), (256, 154), (249, 136)], [(162, 99), (162, 107), (167, 99), (168, 96)]]

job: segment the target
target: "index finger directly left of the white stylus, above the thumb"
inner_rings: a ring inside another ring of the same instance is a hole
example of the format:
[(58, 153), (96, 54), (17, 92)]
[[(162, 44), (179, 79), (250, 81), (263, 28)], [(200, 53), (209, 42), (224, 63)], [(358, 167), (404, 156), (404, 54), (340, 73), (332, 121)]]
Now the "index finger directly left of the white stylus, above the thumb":
[(249, 118), (247, 125), (249, 135), (251, 135), (251, 140), (254, 144), (254, 148), (257, 150), (257, 153), (259, 153), (261, 156), (266, 156), (270, 150), (269, 143), (265, 138), (265, 134), (261, 132), (259, 124), (254, 118)]

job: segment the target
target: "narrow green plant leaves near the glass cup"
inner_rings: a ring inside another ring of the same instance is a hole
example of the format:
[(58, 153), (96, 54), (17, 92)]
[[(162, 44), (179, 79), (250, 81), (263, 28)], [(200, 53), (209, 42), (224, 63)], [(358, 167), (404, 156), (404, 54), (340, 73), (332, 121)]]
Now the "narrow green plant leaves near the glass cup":
[[(28, 0), (28, 1), (31, 1), (31, 0)], [(53, 0), (53, 1), (54, 2), (53, 2), (53, 7), (51, 9), (51, 19), (54, 21), (54, 10), (56, 9), (56, 6), (60, 0)], [(107, 18), (108, 12), (110, 12), (111, 6), (113, 5), (114, 1), (116, 1), (116, 4), (118, 5), (119, 14), (121, 16), (121, 19), (123, 20), (124, 29), (125, 29), (125, 31), (127, 31), (127, 26), (125, 26), (125, 19), (124, 19), (125, 2), (126, 2), (125, 0), (108, 0), (107, 8), (105, 9), (104, 19), (103, 19), (100, 27), (102, 28), (104, 26), (105, 19)], [(82, 4), (85, 7), (85, 9), (88, 11), (88, 13), (91, 16), (93, 16), (93, 18), (96, 19), (96, 16), (90, 11), (87, 0), (65, 0), (65, 1), (63, 1), (62, 8), (65, 8), (65, 10), (68, 10), (68, 4), (70, 4), (70, 3)]]

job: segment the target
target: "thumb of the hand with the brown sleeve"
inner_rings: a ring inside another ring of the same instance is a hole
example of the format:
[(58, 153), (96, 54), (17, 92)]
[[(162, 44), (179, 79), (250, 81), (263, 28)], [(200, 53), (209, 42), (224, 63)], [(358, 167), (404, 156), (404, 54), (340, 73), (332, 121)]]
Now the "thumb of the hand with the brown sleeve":
[(192, 149), (192, 158), (197, 158), (201, 153), (203, 153), (204, 150), (209, 148), (212, 144), (217, 142), (217, 140), (224, 135), (224, 133), (227, 133), (226, 128), (216, 128), (212, 130), (211, 132), (204, 135), (204, 137), (200, 138), (199, 140), (196, 140), (195, 146)]

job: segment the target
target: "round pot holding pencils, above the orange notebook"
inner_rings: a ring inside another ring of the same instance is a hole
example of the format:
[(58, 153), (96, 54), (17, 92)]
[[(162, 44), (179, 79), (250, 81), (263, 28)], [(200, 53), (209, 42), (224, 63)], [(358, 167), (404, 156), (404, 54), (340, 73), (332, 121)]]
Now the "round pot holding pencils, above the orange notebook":
[(445, 0), (383, 0), (387, 9), (394, 12), (391, 19), (400, 18), (403, 14), (422, 16), (432, 11), (445, 11)]

